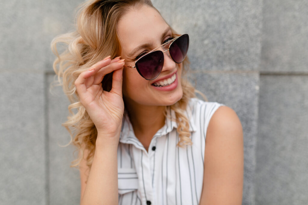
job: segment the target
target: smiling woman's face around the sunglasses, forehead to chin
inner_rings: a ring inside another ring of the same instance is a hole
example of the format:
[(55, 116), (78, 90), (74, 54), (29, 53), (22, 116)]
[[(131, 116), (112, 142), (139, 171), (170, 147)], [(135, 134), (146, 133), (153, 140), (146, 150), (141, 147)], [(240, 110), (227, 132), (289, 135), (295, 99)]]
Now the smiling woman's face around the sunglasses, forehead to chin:
[[(174, 38), (168, 24), (149, 6), (128, 11), (118, 22), (117, 30), (122, 48), (121, 58), (125, 58), (125, 65), (132, 66), (143, 54)], [(144, 44), (147, 46), (139, 48)], [(157, 50), (164, 51), (162, 47)], [(168, 54), (168, 51), (164, 53), (163, 69), (154, 80), (144, 79), (136, 68), (124, 67), (123, 97), (126, 102), (163, 106), (172, 105), (182, 98), (182, 63), (175, 63)], [(167, 86), (158, 86), (166, 82)]]

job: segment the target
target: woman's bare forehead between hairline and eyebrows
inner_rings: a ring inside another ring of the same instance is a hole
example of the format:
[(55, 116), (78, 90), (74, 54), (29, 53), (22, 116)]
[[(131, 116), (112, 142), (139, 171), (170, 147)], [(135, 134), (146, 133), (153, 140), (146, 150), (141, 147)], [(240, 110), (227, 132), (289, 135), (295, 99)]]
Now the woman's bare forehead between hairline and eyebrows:
[(144, 43), (161, 41), (160, 37), (167, 28), (168, 24), (152, 7), (130, 9), (117, 24), (122, 53), (129, 53)]

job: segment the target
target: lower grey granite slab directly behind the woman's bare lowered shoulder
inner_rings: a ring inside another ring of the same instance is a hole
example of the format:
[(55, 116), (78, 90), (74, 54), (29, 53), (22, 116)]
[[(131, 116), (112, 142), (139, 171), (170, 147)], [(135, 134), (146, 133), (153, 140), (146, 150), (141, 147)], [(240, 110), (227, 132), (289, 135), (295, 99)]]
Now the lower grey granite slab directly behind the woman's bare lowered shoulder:
[(197, 89), (208, 101), (232, 108), (241, 120), (244, 132), (243, 203), (254, 204), (255, 147), (258, 120), (258, 73), (195, 73)]

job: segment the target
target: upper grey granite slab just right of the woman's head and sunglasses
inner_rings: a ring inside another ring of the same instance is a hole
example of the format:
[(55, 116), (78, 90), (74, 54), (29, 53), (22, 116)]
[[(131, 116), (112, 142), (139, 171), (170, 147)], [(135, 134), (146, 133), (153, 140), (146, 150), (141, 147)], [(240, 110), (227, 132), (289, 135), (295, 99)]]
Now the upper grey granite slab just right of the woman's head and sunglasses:
[[(188, 33), (196, 70), (257, 70), (261, 56), (262, 1), (172, 1), (171, 26)], [(167, 12), (165, 12), (167, 11)]]

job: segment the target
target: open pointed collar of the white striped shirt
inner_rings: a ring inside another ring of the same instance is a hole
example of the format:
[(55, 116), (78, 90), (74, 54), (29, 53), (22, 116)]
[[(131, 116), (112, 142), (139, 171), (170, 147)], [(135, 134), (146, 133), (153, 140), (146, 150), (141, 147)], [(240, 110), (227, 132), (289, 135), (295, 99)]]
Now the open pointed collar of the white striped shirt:
[[(184, 115), (188, 118), (189, 132), (196, 132), (196, 124), (195, 124), (195, 120), (193, 119), (193, 112), (190, 106), (188, 105), (187, 109), (184, 110), (183, 112), (184, 112)], [(175, 111), (169, 107), (167, 111), (167, 116), (166, 116), (164, 126), (156, 132), (153, 138), (167, 135), (174, 128), (177, 128), (177, 123), (175, 119), (176, 119)], [(132, 144), (132, 142), (135, 142), (137, 144), (140, 144), (140, 146), (142, 146), (142, 144), (140, 143), (140, 141), (136, 138), (134, 134), (134, 130), (129, 120), (127, 112), (124, 112), (124, 116), (122, 120), (120, 142), (127, 143), (127, 144)]]

